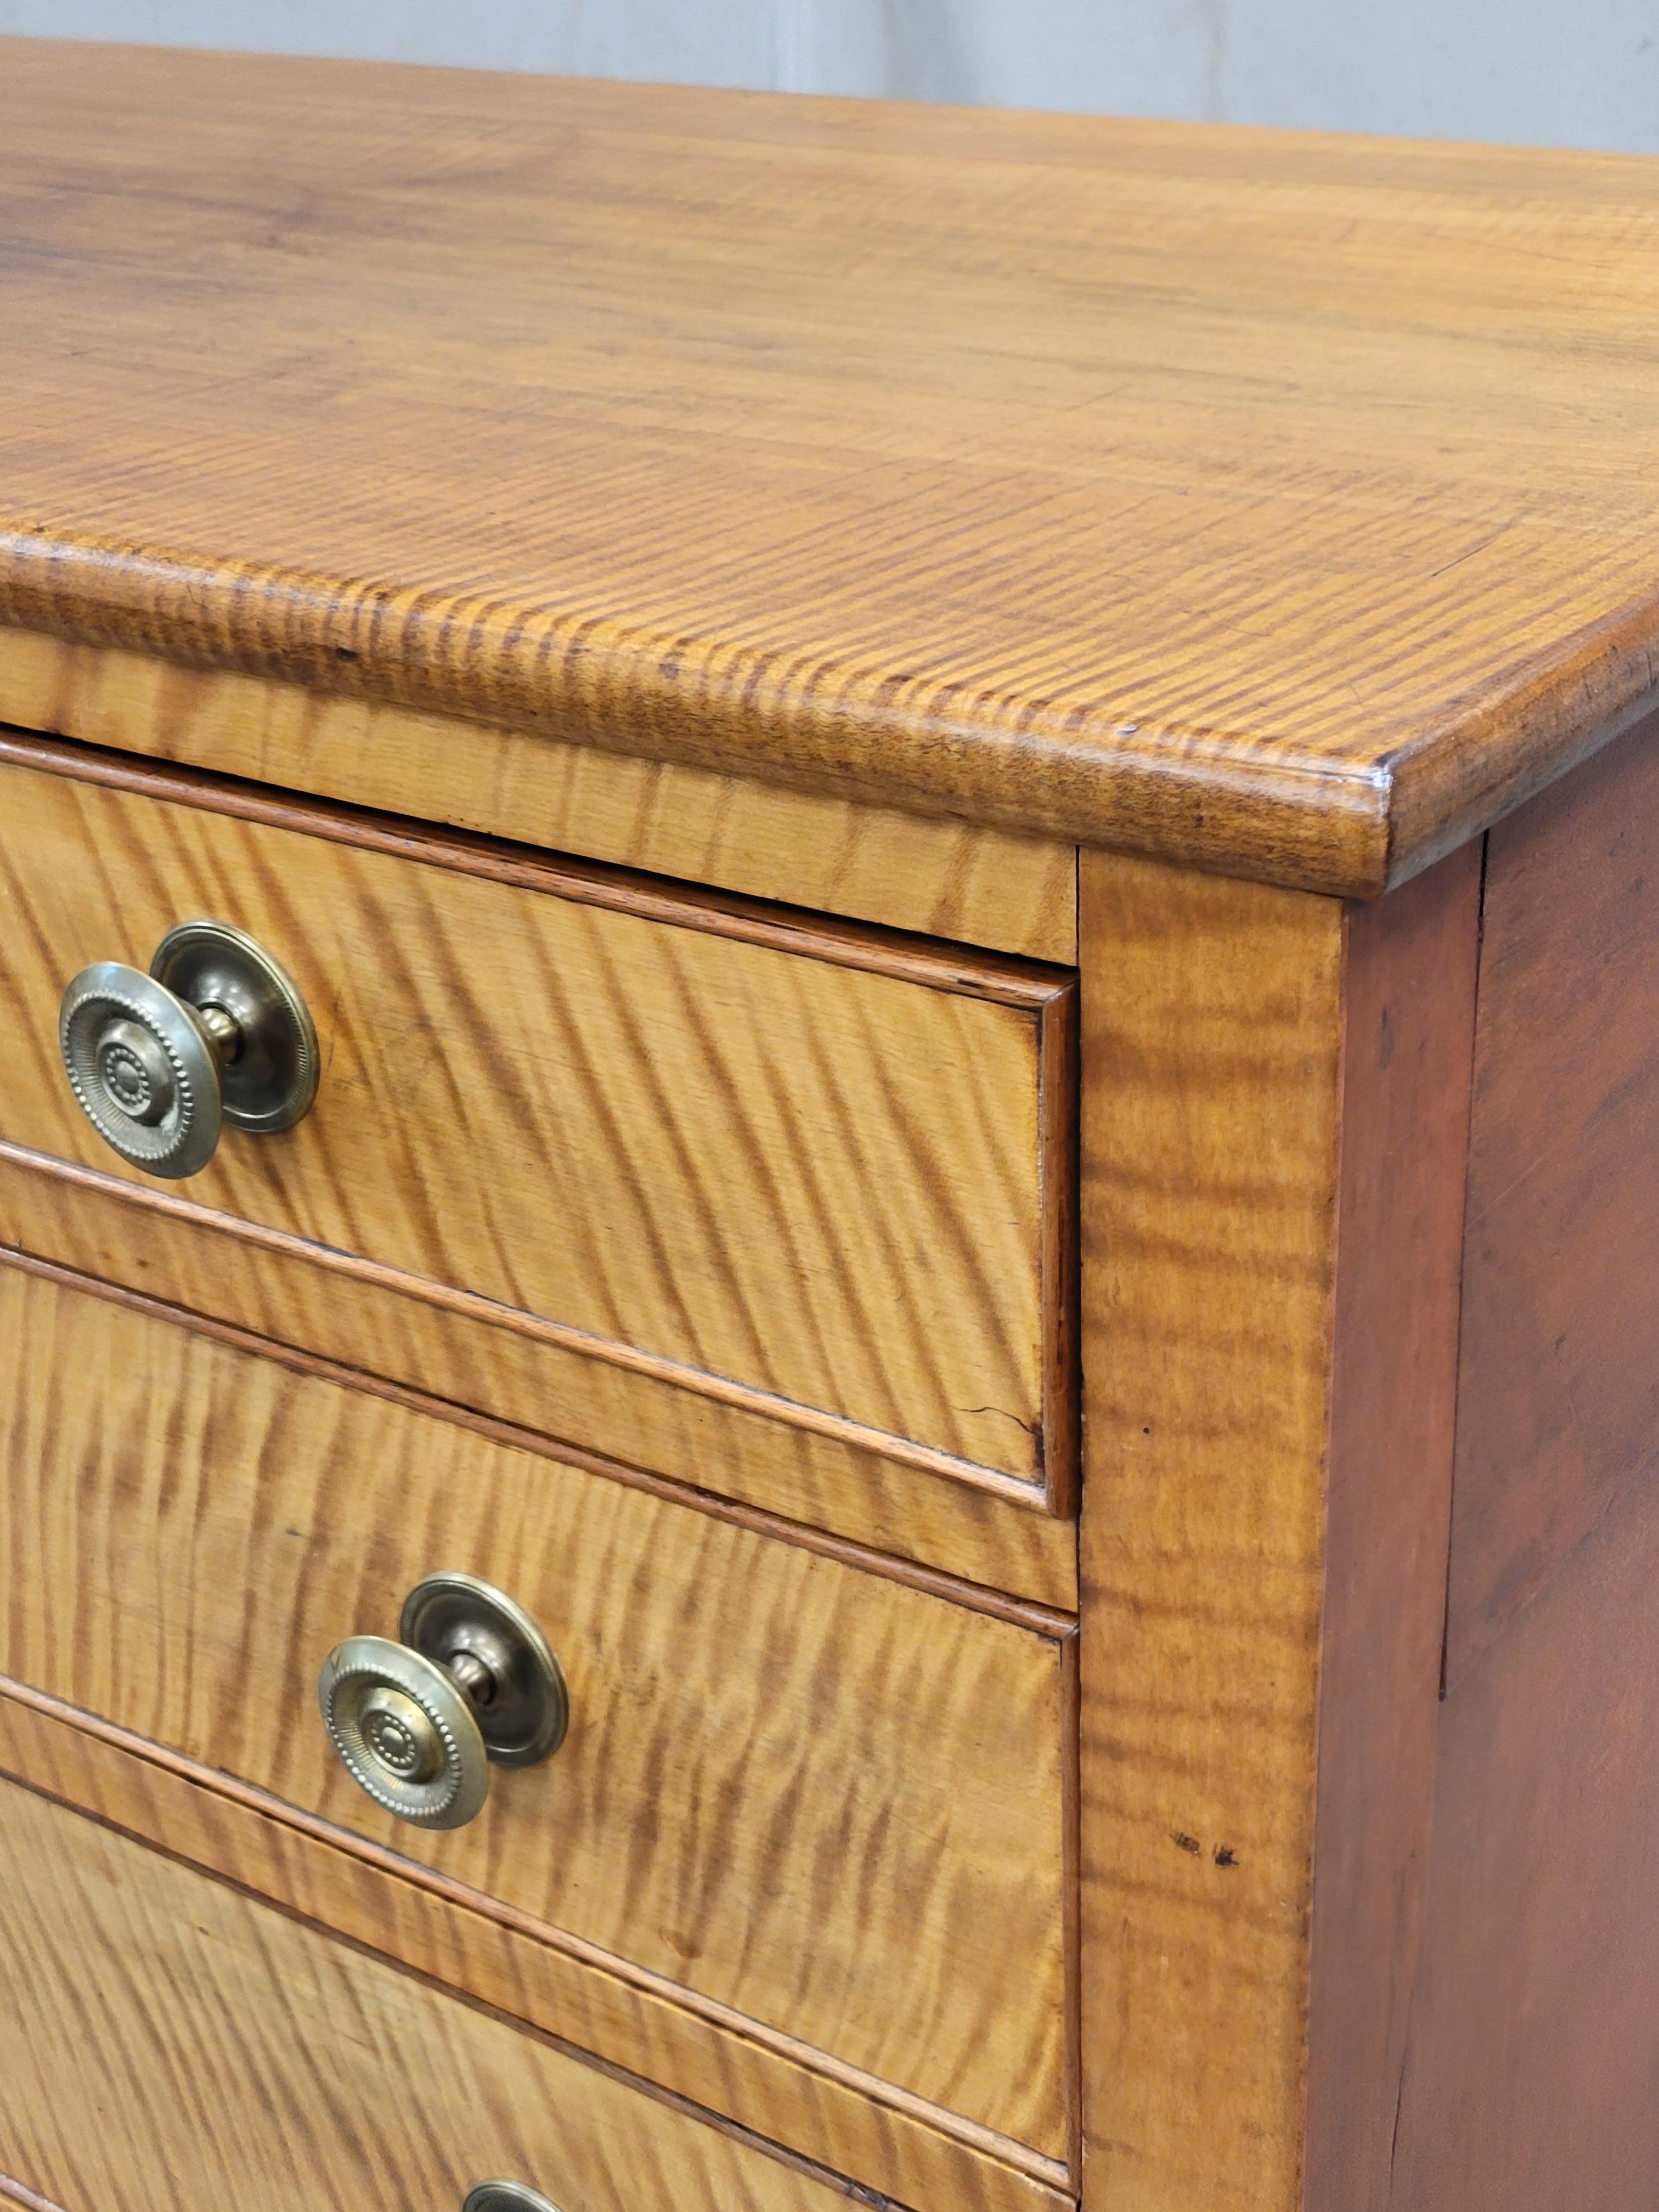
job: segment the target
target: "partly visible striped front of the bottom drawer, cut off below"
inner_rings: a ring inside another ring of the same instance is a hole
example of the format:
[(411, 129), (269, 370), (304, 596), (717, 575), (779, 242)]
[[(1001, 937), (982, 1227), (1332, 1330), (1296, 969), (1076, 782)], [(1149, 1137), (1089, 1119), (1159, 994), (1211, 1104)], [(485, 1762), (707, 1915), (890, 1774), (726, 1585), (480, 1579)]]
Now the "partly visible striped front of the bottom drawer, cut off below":
[(0, 2172), (64, 2212), (830, 2212), (841, 2188), (0, 1783)]

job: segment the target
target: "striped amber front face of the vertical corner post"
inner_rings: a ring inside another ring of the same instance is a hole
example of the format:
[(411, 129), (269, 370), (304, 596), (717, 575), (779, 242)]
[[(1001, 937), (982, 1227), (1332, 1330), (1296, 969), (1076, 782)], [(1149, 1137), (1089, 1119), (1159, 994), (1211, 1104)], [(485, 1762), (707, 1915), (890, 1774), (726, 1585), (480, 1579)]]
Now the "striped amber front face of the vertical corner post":
[(1343, 909), (1086, 854), (1088, 2212), (1296, 2212)]

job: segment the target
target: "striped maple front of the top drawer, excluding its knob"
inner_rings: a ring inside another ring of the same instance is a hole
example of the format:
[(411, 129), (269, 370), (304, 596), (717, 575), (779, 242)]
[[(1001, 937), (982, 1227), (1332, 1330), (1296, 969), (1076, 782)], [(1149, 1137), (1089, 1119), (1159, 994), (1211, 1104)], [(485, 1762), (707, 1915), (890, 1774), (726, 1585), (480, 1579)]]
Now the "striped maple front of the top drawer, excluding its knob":
[[(288, 1135), (228, 1133), (195, 1203), (922, 1475), (1064, 1504), (1062, 971), (181, 770), (0, 757), (0, 1135), (144, 1181), (75, 1108), (58, 998), (210, 914), (296, 978), (323, 1079)], [(666, 1471), (721, 1489), (717, 1464)]]

